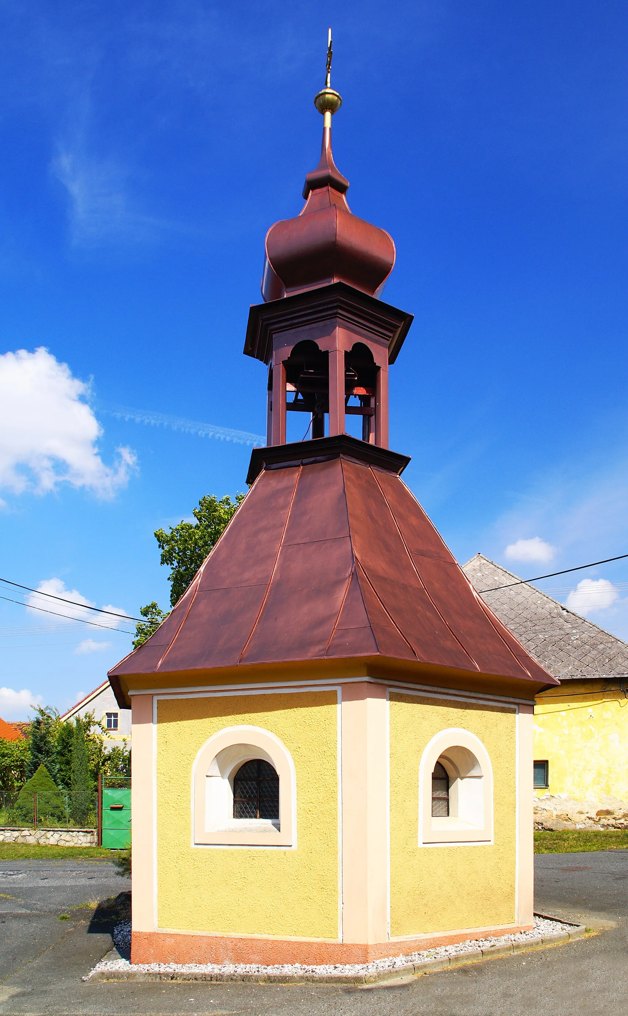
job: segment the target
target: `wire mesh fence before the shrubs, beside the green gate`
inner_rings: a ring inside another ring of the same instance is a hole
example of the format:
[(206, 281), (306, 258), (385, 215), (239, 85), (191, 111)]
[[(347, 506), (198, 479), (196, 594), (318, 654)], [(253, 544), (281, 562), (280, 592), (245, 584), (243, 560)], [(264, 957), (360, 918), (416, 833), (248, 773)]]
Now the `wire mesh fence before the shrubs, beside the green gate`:
[(0, 790), (0, 828), (96, 829), (98, 795), (83, 790)]

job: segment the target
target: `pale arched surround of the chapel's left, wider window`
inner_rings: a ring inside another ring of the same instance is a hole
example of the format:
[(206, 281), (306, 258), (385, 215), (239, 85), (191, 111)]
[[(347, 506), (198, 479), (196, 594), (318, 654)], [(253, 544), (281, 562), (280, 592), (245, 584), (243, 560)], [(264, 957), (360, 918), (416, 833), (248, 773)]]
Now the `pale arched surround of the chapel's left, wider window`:
[[(235, 819), (234, 776), (251, 759), (270, 763), (279, 777), (279, 818)], [(297, 778), (286, 746), (260, 726), (228, 726), (209, 738), (192, 766), (192, 844), (297, 845)]]

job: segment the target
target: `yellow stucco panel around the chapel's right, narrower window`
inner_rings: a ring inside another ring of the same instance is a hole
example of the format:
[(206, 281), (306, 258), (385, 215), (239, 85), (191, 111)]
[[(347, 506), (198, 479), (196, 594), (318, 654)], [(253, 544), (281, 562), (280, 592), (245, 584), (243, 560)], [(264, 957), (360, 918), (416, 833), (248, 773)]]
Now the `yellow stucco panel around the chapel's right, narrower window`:
[[(422, 846), (419, 764), (449, 726), (470, 731), (493, 766), (494, 844)], [(515, 919), (516, 717), (513, 710), (390, 695), (390, 934), (486, 928)]]

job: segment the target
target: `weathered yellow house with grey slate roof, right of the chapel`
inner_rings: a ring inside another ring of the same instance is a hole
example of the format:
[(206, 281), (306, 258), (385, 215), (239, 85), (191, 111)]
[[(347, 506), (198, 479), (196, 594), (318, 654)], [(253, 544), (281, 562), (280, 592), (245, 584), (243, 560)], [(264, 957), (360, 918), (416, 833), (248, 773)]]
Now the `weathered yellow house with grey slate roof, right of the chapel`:
[[(537, 828), (625, 828), (628, 645), (482, 554), (462, 571), (537, 662), (561, 682), (537, 697)], [(495, 589), (514, 582), (519, 584)]]

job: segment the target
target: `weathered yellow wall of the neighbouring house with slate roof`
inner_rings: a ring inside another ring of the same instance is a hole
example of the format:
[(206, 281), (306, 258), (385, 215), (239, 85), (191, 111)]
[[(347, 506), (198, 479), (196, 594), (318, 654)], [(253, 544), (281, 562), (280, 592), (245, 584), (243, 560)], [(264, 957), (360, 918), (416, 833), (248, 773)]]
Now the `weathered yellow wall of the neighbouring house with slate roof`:
[[(608, 690), (605, 690), (608, 689)], [(535, 708), (535, 758), (550, 763), (549, 788), (575, 801), (628, 801), (628, 699), (617, 683), (569, 681)]]

